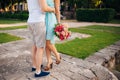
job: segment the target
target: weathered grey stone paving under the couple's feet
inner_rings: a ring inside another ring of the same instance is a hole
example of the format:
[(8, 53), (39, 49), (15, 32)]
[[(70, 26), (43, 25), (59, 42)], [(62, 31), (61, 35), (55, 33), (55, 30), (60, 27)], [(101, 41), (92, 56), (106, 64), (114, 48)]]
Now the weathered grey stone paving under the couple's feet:
[[(80, 26), (76, 24), (75, 27), (77, 25)], [(92, 24), (90, 23), (90, 25)], [(0, 32), (25, 38), (19, 41), (0, 44), (0, 80), (118, 80), (106, 67), (111, 67), (109, 66), (112, 63), (110, 61), (111, 57), (114, 58), (120, 50), (120, 41), (96, 52), (85, 60), (61, 54), (61, 64), (56, 65), (54, 63), (49, 76), (34, 78), (34, 72), (31, 72), (31, 44), (28, 31), (26, 29), (18, 29)], [(75, 38), (75, 35), (79, 38), (81, 36), (82, 38), (86, 37), (85, 34), (74, 33), (70, 39)], [(90, 37), (90, 35), (87, 36)], [(55, 57), (52, 56), (52, 58), (55, 62)], [(43, 65), (45, 64), (46, 58), (44, 55)]]

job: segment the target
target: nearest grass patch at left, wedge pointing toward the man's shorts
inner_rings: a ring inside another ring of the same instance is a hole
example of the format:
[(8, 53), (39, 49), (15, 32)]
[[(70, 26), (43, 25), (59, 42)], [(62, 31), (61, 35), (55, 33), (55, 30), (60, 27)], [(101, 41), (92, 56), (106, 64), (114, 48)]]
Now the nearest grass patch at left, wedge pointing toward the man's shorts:
[(0, 44), (10, 42), (10, 41), (21, 40), (21, 39), (22, 38), (14, 36), (14, 35), (10, 35), (7, 33), (0, 33)]

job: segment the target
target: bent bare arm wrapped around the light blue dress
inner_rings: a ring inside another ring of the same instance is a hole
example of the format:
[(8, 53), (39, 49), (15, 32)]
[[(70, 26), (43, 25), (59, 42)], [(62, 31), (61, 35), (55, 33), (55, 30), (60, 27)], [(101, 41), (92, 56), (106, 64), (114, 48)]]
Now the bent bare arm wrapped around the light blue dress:
[(39, 0), (40, 7), (44, 12), (55, 12), (55, 8), (51, 8), (47, 5), (46, 0)]

